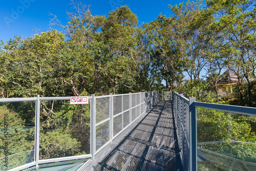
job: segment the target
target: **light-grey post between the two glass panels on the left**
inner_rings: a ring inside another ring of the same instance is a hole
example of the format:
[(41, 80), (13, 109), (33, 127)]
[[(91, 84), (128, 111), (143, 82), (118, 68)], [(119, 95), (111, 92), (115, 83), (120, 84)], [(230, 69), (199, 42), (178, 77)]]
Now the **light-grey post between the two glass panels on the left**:
[(35, 114), (35, 166), (38, 167), (39, 161), (39, 130), (40, 130), (40, 99), (36, 95), (36, 114)]

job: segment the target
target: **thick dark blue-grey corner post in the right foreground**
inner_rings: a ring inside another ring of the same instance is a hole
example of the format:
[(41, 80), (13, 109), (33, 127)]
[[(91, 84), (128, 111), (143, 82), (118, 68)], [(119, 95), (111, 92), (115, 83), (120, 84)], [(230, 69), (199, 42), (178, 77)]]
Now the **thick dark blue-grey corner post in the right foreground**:
[(189, 98), (189, 133), (190, 133), (190, 151), (189, 170), (197, 170), (197, 108), (194, 105), (195, 98)]

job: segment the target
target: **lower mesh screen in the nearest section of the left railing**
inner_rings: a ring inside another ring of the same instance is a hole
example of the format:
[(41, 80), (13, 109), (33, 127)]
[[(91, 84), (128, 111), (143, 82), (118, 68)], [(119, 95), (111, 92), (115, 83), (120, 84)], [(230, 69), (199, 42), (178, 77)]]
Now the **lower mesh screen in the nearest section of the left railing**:
[(96, 150), (110, 140), (110, 121), (96, 126)]

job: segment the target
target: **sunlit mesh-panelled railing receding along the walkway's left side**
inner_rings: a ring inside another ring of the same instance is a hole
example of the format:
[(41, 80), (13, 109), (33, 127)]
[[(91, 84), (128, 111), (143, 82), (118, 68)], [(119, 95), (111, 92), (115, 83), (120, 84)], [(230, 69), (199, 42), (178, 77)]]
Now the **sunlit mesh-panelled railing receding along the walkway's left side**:
[(159, 101), (159, 92), (95, 96), (91, 102), (91, 154), (112, 143), (147, 109)]

